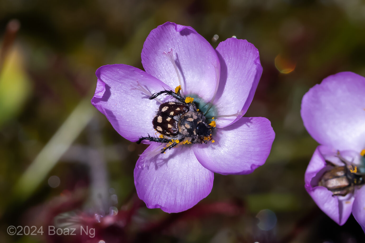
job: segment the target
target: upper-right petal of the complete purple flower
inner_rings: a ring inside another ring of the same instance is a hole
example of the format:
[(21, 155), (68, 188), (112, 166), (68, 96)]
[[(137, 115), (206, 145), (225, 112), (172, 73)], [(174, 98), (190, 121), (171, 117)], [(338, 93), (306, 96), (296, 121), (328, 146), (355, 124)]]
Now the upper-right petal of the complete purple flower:
[[(220, 81), (214, 104), (218, 115), (244, 115), (249, 108), (262, 74), (257, 48), (236, 38), (219, 43), (216, 48), (220, 59)], [(237, 121), (238, 117), (224, 117), (216, 120), (217, 127), (224, 128)]]

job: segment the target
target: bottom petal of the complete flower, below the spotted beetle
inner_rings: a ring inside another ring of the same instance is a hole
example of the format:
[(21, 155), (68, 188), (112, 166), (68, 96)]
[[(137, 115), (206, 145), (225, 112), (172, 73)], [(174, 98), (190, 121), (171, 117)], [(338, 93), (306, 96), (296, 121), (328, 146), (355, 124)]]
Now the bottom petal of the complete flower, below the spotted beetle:
[(161, 208), (168, 213), (193, 207), (208, 196), (214, 173), (196, 159), (191, 146), (180, 146), (149, 158), (161, 147), (151, 144), (139, 157), (134, 169), (137, 194), (148, 208)]

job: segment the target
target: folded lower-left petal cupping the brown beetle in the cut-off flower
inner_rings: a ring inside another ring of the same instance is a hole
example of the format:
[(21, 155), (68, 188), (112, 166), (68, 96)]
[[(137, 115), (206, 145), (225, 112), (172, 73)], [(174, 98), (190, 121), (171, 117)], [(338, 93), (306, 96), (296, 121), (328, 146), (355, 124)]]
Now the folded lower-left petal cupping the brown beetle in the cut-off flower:
[(346, 195), (347, 198), (333, 196), (333, 193), (327, 188), (311, 185), (314, 177), (318, 177), (318, 173), (327, 165), (323, 155), (330, 156), (333, 152), (334, 150), (329, 147), (318, 146), (308, 164), (304, 175), (304, 181), (308, 194), (312, 197), (318, 207), (326, 213), (328, 217), (339, 225), (342, 225), (351, 214), (352, 203), (354, 201), (353, 195)]

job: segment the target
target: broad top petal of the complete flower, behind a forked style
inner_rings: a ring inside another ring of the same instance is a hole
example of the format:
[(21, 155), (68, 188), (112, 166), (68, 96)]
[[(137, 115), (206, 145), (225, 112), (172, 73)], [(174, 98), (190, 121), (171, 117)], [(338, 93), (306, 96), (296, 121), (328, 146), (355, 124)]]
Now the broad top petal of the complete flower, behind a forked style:
[(179, 85), (176, 71), (163, 54), (171, 49), (184, 95), (195, 94), (210, 101), (215, 90), (216, 68), (219, 72), (220, 67), (214, 48), (189, 26), (166, 22), (150, 32), (141, 54), (143, 68), (175, 88)]

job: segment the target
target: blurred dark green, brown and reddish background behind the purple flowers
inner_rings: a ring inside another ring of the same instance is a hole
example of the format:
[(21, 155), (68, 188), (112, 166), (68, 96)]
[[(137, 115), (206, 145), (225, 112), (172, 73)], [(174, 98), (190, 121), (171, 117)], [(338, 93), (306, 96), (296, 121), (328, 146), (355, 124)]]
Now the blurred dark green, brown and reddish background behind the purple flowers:
[[(276, 132), (264, 166), (216, 174), (207, 198), (173, 214), (136, 195), (146, 145), (120, 137), (90, 103), (95, 70), (142, 69), (143, 42), (166, 21), (213, 47), (236, 36), (258, 48), (264, 72), (245, 116), (269, 118)], [(1, 0), (0, 242), (365, 242), (353, 216), (338, 226), (305, 191), (317, 144), (300, 117), (323, 78), (365, 76), (364, 29), (361, 0)], [(95, 237), (46, 234), (70, 222)], [(11, 236), (11, 225), (44, 233)]]

